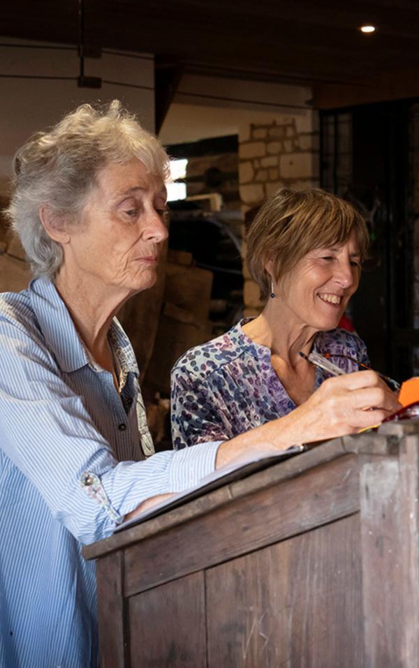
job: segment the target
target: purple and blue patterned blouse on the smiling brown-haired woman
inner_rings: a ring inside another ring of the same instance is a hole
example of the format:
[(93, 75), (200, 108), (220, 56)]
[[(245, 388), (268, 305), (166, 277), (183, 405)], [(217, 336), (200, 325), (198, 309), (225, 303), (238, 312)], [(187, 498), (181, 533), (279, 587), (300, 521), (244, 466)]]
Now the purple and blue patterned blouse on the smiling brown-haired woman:
[[(244, 333), (242, 320), (229, 332), (188, 350), (172, 369), (172, 440), (175, 450), (228, 440), (296, 408), (275, 373), (267, 346)], [(318, 332), (315, 352), (348, 355), (369, 364), (365, 343), (344, 329)], [(358, 364), (331, 360), (350, 373)], [(316, 368), (317, 389), (329, 374)]]

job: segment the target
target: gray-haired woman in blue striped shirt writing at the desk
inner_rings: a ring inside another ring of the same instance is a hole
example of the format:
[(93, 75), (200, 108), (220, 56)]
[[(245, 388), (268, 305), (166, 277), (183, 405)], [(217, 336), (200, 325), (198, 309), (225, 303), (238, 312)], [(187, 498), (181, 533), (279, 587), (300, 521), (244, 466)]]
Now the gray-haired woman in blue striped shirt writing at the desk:
[[(115, 313), (156, 281), (168, 234), (167, 166), (159, 143), (116, 102), (102, 112), (83, 105), (15, 158), (8, 215), (36, 278), (0, 297), (1, 666), (97, 666), (94, 564), (82, 558), (82, 544), (249, 449), (281, 450), (314, 436), (306, 417), (298, 434), (274, 421), (231, 441), (219, 430), (225, 442), (208, 443), (200, 420), (205, 443), (145, 459), (153, 449), (138, 366)], [(335, 251), (339, 295), (358, 277), (348, 248)], [(316, 276), (328, 271), (329, 260), (315, 262)], [(332, 290), (323, 292), (322, 308), (336, 309)], [(316, 327), (329, 329), (326, 313)], [(374, 373), (334, 380), (318, 402), (336, 433), (379, 422), (395, 407)], [(294, 390), (296, 401), (303, 389)], [(378, 408), (362, 419), (371, 406)], [(198, 416), (205, 410), (223, 422), (218, 407), (197, 406)]]

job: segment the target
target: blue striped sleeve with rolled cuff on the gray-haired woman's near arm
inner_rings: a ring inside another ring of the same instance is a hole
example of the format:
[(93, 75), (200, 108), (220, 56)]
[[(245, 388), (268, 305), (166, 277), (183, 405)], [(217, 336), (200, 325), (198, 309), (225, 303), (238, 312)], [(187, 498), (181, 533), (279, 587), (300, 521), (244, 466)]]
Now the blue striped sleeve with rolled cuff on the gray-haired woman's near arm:
[[(0, 418), (1, 450), (36, 487), (52, 517), (84, 544), (108, 537), (146, 498), (193, 487), (214, 470), (219, 447), (209, 443), (145, 461), (117, 461), (52, 353), (4, 318)], [(96, 495), (83, 484), (89, 475), (98, 481)]]

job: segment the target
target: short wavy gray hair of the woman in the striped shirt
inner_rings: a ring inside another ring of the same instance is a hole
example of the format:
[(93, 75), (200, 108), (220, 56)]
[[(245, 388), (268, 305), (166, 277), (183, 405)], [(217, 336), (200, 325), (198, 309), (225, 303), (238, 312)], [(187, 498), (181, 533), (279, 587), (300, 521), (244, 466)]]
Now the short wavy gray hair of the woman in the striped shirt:
[(80, 212), (108, 163), (138, 158), (148, 172), (166, 181), (169, 160), (154, 135), (140, 126), (118, 100), (107, 107), (84, 104), (50, 132), (36, 133), (13, 158), (14, 191), (5, 213), (31, 263), (34, 276), (56, 276), (61, 244), (39, 217), (42, 205), (78, 223)]

